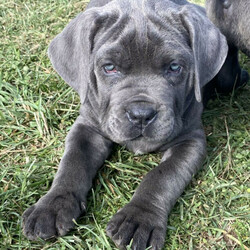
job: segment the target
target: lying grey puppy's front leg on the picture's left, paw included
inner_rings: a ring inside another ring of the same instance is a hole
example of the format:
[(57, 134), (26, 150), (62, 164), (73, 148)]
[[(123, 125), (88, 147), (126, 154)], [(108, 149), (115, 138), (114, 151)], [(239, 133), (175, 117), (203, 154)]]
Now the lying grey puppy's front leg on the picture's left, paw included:
[(31, 240), (65, 235), (86, 208), (86, 197), (112, 143), (78, 117), (66, 139), (58, 172), (49, 192), (23, 214), (23, 231)]

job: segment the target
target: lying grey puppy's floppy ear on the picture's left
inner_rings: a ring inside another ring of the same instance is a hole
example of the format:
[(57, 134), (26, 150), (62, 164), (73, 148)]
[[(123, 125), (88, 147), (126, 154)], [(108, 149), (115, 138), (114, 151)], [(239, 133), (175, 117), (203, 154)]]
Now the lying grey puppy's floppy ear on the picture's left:
[(90, 53), (97, 31), (96, 15), (80, 13), (50, 43), (48, 55), (57, 73), (79, 94), (83, 103), (90, 75)]

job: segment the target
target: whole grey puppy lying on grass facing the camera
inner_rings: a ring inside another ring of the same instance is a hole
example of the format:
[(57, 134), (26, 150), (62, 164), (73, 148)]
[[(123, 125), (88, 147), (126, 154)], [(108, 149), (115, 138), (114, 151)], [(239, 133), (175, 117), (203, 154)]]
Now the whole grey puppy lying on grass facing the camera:
[(49, 57), (81, 99), (49, 192), (23, 215), (31, 240), (65, 235), (86, 209), (114, 143), (163, 153), (110, 220), (118, 247), (160, 249), (171, 208), (202, 166), (203, 87), (227, 56), (204, 9), (185, 0), (93, 0), (51, 42)]

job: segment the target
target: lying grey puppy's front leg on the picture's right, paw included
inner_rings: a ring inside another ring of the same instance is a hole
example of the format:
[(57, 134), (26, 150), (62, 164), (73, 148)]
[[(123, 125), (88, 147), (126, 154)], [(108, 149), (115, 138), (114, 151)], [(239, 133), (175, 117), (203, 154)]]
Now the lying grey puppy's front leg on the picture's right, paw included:
[(118, 247), (133, 239), (132, 249), (161, 249), (167, 217), (205, 156), (205, 136), (201, 130), (169, 148), (162, 163), (149, 172), (132, 200), (108, 224), (107, 234)]

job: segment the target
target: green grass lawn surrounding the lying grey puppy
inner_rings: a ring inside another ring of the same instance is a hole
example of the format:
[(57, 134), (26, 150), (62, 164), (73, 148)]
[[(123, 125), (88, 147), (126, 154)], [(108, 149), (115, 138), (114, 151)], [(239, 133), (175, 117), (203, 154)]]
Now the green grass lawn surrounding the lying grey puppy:
[[(46, 242), (23, 236), (21, 214), (49, 189), (79, 108), (76, 93), (53, 71), (47, 46), (84, 6), (0, 0), (0, 249), (115, 249), (107, 222), (160, 161), (117, 147), (74, 230)], [(248, 58), (241, 55), (241, 63), (250, 71)], [(205, 111), (208, 157), (170, 215), (165, 249), (248, 249), (249, 96), (248, 86)]]

